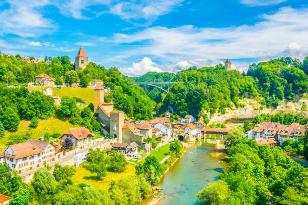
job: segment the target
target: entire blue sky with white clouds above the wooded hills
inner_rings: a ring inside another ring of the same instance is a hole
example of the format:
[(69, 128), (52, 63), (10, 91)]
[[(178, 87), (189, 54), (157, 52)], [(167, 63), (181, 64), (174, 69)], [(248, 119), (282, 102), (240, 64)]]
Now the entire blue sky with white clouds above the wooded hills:
[(0, 50), (90, 61), (129, 76), (308, 56), (306, 0), (0, 0)]

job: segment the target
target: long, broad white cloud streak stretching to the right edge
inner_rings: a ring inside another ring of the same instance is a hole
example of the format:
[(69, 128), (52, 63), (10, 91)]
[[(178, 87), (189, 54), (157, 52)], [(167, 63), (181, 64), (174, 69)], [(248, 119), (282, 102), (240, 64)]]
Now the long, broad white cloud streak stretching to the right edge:
[[(216, 59), (225, 59), (227, 55), (231, 61), (250, 59), (246, 65), (234, 63), (238, 68), (248, 67), (251, 58), (258, 61), (289, 55), (290, 52), (294, 57), (308, 55), (307, 49), (304, 49), (308, 48), (308, 8), (282, 8), (274, 14), (261, 15), (260, 18), (262, 21), (254, 25), (229, 28), (196, 28), (191, 25), (177, 28), (151, 27), (132, 34), (114, 34), (109, 42), (119, 45), (145, 42), (124, 49), (118, 55), (129, 59), (141, 53), (163, 62), (164, 69), (179, 69), (188, 64), (212, 65), (219, 63)], [(194, 62), (188, 59), (206, 60)]]

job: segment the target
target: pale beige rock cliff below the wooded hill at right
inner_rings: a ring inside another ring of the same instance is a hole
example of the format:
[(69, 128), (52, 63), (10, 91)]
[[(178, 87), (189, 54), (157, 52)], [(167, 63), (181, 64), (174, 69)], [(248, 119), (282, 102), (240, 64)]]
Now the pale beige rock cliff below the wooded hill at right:
[(294, 101), (284, 100), (276, 109), (273, 107), (266, 107), (259, 104), (256, 100), (250, 98), (244, 98), (241, 100), (246, 106), (238, 109), (226, 109), (226, 113), (210, 114), (206, 113), (210, 118), (210, 124), (212, 123), (240, 123), (244, 120), (252, 120), (256, 116), (261, 114), (277, 114), (277, 113), (290, 113), (293, 115), (299, 115), (303, 118), (308, 117), (308, 112), (302, 111), (303, 102), (308, 104), (308, 98), (298, 98)]

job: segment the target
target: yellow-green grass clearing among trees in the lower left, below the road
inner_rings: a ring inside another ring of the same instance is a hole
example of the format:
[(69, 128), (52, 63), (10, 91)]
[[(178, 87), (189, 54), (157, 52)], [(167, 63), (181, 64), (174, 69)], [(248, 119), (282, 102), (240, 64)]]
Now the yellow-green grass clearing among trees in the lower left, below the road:
[(110, 187), (110, 182), (112, 180), (117, 181), (119, 178), (123, 176), (127, 176), (129, 174), (135, 173), (135, 166), (132, 164), (127, 164), (126, 170), (121, 173), (117, 172), (107, 172), (106, 176), (103, 177), (101, 180), (97, 179), (96, 173), (91, 173), (88, 169), (88, 162), (84, 162), (78, 168), (76, 168), (76, 173), (71, 177), (71, 180), (76, 183), (85, 183), (94, 188), (99, 188), (105, 191), (108, 191)]

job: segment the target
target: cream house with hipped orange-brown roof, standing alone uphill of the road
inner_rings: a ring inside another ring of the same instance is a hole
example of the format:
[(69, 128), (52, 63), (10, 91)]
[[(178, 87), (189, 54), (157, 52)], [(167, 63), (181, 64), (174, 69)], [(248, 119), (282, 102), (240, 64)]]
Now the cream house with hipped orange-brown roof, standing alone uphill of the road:
[(85, 127), (81, 128), (71, 128), (66, 131), (61, 137), (61, 143), (65, 141), (66, 138), (71, 139), (73, 142), (73, 147), (76, 149), (85, 149), (92, 145), (93, 134)]

